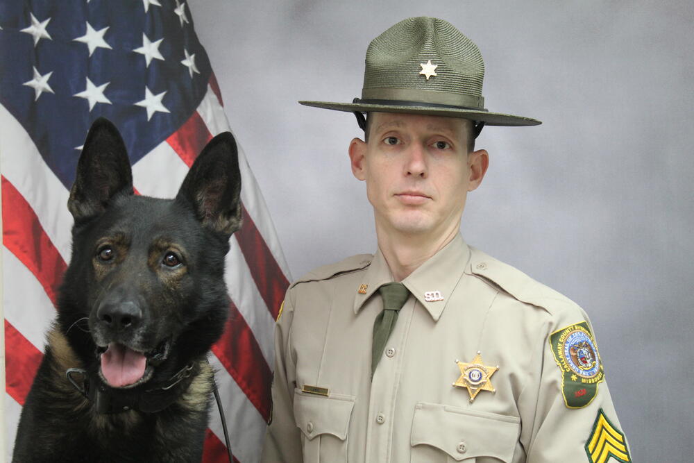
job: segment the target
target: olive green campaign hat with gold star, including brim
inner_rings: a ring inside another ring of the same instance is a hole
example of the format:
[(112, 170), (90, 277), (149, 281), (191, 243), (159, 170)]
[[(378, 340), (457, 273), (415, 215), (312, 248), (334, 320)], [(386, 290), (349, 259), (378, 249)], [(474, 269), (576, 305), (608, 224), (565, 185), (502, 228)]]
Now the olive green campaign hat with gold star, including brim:
[(476, 121), (480, 129), (485, 124), (541, 124), (530, 117), (486, 110), (483, 80), (484, 61), (472, 40), (443, 19), (411, 17), (369, 44), (360, 99), (352, 103), (299, 103), (354, 112), (360, 126), (364, 120), (361, 113), (371, 111), (461, 117)]

